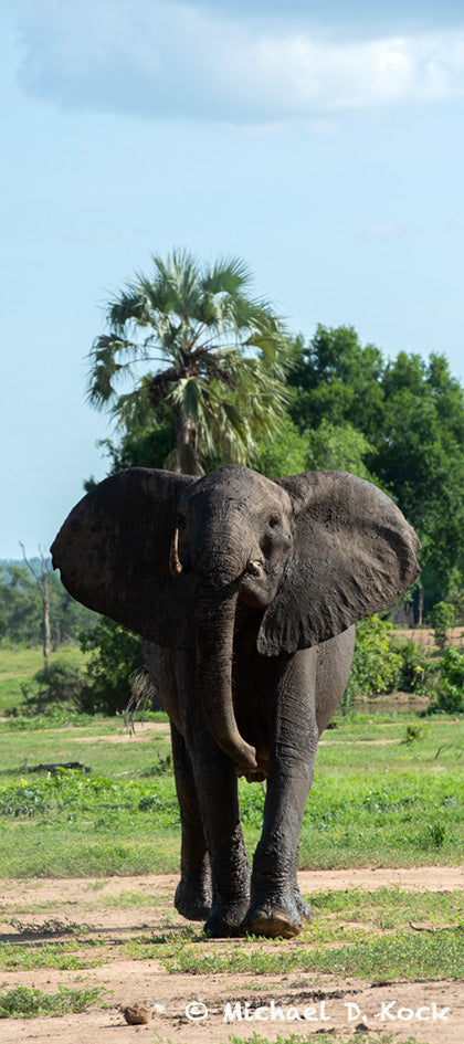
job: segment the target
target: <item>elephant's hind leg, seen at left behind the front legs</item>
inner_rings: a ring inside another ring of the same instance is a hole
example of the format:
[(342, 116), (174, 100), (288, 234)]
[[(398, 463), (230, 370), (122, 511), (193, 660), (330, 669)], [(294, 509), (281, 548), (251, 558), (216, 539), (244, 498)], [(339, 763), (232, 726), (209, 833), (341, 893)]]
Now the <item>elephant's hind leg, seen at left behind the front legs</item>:
[(212, 907), (210, 861), (190, 757), (183, 737), (172, 723), (171, 740), (182, 827), (180, 882), (175, 906), (189, 920), (204, 920)]

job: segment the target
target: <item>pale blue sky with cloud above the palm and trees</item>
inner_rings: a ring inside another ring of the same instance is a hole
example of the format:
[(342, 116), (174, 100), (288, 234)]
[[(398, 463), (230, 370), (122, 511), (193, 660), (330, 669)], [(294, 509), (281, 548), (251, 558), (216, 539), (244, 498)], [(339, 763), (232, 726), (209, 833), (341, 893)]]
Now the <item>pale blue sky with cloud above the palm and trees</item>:
[(0, 558), (105, 475), (86, 355), (151, 252), (464, 380), (462, 3), (3, 0), (0, 40)]

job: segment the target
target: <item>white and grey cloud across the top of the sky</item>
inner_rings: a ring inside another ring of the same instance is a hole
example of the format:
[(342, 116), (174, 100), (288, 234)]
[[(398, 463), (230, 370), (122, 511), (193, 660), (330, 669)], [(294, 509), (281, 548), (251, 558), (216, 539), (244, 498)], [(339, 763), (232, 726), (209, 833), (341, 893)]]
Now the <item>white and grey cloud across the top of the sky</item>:
[(342, 43), (303, 19), (156, 0), (18, 0), (14, 13), (23, 87), (66, 108), (270, 123), (464, 94), (464, 27)]

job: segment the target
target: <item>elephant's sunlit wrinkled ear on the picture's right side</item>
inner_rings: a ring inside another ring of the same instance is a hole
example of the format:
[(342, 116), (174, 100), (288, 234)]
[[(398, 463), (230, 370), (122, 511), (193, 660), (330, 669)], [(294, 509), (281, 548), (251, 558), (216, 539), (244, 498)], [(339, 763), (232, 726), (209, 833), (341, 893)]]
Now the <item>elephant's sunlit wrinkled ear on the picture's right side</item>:
[(257, 636), (267, 656), (326, 642), (396, 605), (419, 573), (421, 547), (390, 497), (348, 472), (276, 484), (293, 502), (294, 549)]

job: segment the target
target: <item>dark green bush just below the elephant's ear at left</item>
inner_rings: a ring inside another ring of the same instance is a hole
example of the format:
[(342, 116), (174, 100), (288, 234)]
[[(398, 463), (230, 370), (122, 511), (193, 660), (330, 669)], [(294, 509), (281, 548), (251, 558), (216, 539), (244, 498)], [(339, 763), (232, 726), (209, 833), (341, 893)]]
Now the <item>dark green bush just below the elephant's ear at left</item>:
[(141, 667), (140, 639), (120, 624), (101, 616), (92, 631), (82, 631), (80, 644), (89, 652), (80, 707), (84, 714), (120, 714), (130, 699), (130, 676)]

